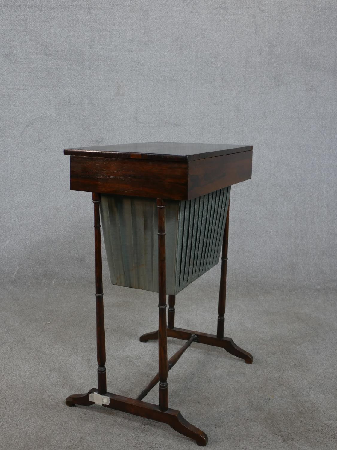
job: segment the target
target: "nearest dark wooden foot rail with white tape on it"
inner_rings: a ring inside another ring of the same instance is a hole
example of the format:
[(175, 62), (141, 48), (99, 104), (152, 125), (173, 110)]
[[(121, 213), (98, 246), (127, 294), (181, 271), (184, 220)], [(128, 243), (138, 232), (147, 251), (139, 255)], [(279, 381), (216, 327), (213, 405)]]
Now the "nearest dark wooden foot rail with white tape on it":
[[(93, 405), (93, 402), (89, 401), (89, 396), (93, 392), (97, 392), (97, 389), (90, 389), (87, 394), (71, 395), (66, 399), (66, 404), (68, 406)], [(108, 405), (102, 405), (106, 408), (135, 414), (140, 417), (145, 417), (146, 419), (156, 420), (157, 422), (167, 423), (175, 431), (196, 441), (198, 446), (206, 446), (207, 444), (208, 437), (206, 433), (184, 419), (178, 410), (172, 410), (170, 408), (166, 411), (161, 411), (158, 405), (112, 394), (111, 392), (106, 392), (105, 396), (110, 399)]]

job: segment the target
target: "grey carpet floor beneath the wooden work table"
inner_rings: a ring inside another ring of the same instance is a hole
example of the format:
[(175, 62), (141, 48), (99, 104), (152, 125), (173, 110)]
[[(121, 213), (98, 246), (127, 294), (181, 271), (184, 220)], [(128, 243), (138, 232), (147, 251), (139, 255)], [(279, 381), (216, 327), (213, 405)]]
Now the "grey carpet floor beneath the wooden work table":
[[(214, 333), (219, 267), (177, 296), (176, 325)], [(1, 288), (0, 447), (193, 449), (168, 425), (66, 397), (96, 387), (93, 280)], [(27, 282), (26, 282), (27, 283)], [(105, 279), (108, 390), (137, 396), (157, 371), (157, 296)], [(193, 343), (169, 373), (169, 402), (205, 431), (209, 449), (337, 446), (336, 291), (228, 288), (225, 335), (254, 355), (247, 365)], [(50, 323), (49, 323), (50, 322)], [(169, 355), (182, 342), (169, 339)], [(147, 401), (157, 402), (157, 388)]]

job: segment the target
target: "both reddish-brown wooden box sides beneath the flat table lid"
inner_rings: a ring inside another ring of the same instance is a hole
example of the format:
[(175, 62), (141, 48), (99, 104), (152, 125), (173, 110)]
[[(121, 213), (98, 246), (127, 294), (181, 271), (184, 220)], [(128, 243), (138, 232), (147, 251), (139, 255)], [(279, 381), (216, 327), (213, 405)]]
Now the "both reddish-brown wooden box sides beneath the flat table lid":
[(190, 162), (70, 157), (70, 189), (187, 200), (248, 180), (252, 151)]

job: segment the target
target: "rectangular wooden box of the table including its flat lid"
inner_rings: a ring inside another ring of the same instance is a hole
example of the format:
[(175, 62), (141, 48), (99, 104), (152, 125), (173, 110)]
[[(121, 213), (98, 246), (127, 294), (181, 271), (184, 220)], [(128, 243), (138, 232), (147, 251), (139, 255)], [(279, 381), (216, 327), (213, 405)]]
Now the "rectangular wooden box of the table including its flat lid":
[(251, 177), (252, 145), (145, 142), (66, 148), (70, 189), (189, 200)]

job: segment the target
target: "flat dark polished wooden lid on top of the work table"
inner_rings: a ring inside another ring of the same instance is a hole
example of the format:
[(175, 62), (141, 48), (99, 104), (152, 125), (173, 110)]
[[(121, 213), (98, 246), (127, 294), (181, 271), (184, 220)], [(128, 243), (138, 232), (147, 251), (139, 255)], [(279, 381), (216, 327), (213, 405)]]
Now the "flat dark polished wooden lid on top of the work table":
[(229, 153), (252, 150), (252, 145), (199, 144), (186, 142), (140, 142), (135, 144), (99, 145), (65, 148), (66, 155), (106, 158), (153, 159), (160, 161), (193, 161)]

